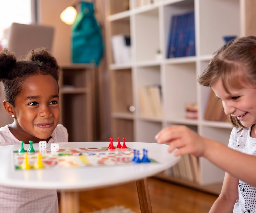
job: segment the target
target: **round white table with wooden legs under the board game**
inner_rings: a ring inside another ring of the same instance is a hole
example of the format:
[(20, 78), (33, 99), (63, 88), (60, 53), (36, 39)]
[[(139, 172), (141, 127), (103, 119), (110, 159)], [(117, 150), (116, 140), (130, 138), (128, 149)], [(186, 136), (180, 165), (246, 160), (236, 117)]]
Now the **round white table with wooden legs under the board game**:
[[(116, 146), (117, 142), (114, 142)], [(64, 148), (107, 147), (109, 142), (69, 142), (59, 143)], [(49, 149), (49, 144), (47, 144)], [(129, 165), (104, 165), (92, 167), (65, 167), (54, 169), (16, 170), (13, 150), (19, 145), (0, 146), (0, 185), (33, 188), (57, 189), (61, 192), (61, 212), (79, 212), (78, 191), (136, 181), (142, 213), (152, 212), (146, 177), (153, 176), (175, 165), (180, 157), (168, 153), (168, 145), (157, 143), (126, 142), (126, 146), (142, 152), (148, 150), (148, 157), (158, 163), (134, 163)], [(39, 150), (39, 144), (33, 144)], [(24, 144), (25, 150), (29, 144)]]

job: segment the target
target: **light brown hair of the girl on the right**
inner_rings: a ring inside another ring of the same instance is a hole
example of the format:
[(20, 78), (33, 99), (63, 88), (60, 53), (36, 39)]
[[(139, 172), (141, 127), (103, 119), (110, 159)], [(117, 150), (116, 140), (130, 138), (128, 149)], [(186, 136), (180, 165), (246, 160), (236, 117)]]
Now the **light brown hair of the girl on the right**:
[[(229, 89), (242, 89), (245, 85), (256, 88), (255, 36), (234, 39), (221, 47), (197, 81), (211, 87), (219, 78), (227, 93), (230, 93)], [(229, 119), (234, 127), (244, 128), (236, 117), (229, 115)]]

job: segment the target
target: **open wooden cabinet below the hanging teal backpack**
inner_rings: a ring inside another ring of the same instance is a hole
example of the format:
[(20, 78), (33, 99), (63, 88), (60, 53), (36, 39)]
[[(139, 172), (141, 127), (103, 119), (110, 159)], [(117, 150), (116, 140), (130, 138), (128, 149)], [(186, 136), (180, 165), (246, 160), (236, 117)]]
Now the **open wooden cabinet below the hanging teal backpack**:
[(91, 65), (60, 66), (60, 109), (70, 142), (93, 140), (93, 73)]

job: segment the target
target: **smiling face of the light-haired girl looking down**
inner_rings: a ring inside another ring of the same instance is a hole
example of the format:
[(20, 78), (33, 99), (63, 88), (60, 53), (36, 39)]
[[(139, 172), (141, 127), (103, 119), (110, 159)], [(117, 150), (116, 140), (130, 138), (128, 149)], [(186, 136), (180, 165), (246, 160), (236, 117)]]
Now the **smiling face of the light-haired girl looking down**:
[(223, 87), (221, 78), (211, 85), (212, 90), (222, 100), (226, 115), (236, 117), (243, 126), (250, 127), (256, 123), (256, 88), (248, 85), (241, 89)]

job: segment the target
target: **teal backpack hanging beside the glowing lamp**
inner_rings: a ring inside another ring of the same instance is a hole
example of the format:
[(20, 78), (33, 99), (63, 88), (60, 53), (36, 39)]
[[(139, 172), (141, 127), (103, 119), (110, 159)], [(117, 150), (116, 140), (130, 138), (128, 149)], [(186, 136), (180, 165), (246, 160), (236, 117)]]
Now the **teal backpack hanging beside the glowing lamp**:
[(72, 26), (72, 62), (98, 66), (104, 46), (100, 27), (94, 17), (93, 3), (82, 1), (80, 6), (81, 11)]

